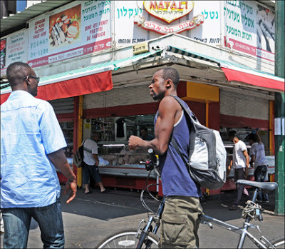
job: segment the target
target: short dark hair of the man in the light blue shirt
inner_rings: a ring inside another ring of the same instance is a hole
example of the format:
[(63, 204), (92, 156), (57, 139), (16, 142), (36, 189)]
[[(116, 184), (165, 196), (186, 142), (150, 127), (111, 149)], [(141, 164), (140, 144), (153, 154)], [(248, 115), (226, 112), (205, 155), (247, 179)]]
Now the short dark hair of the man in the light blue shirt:
[[(10, 86), (12, 87), (12, 86), (16, 86), (22, 83), (23, 77), (25, 76), (24, 69), (28, 70), (29, 68), (31, 68), (31, 66), (28, 66), (27, 63), (24, 63), (21, 61), (16, 61), (16, 62), (11, 63), (7, 67), (7, 71), (6, 71), (6, 77), (9, 81)], [(19, 72), (23, 72), (23, 77), (19, 75)]]

